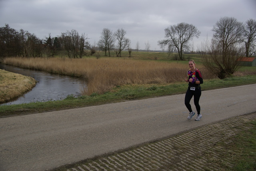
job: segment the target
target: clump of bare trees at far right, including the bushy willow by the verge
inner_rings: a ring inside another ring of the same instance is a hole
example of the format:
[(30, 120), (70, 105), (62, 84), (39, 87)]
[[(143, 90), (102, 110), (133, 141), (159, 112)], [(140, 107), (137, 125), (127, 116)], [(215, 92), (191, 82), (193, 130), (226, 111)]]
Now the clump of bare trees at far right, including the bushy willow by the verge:
[(213, 26), (212, 40), (202, 43), (204, 66), (218, 78), (231, 76), (240, 68), (240, 59), (256, 55), (256, 21), (246, 24), (223, 17)]

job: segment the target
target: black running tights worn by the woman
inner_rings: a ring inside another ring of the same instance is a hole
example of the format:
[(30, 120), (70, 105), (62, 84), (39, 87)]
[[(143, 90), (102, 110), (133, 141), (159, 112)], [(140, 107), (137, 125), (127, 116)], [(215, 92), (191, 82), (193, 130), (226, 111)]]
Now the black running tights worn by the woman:
[(188, 108), (189, 112), (192, 112), (192, 108), (191, 108), (191, 105), (190, 105), (190, 100), (192, 99), (193, 95), (194, 95), (194, 104), (196, 106), (196, 111), (197, 111), (197, 114), (199, 115), (200, 114), (200, 109), (201, 109), (200, 105), (199, 105), (199, 99), (200, 99), (200, 96), (201, 96), (201, 87), (196, 88), (195, 90), (188, 89), (187, 92), (186, 92), (185, 105)]

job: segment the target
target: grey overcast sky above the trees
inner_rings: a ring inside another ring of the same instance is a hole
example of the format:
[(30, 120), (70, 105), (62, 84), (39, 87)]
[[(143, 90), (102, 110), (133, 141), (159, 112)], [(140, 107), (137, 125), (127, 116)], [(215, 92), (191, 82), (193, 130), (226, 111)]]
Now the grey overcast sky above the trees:
[(74, 29), (87, 34), (92, 45), (103, 28), (123, 28), (132, 48), (139, 42), (146, 49), (149, 42), (150, 50), (160, 50), (157, 42), (164, 39), (164, 29), (181, 22), (201, 32), (191, 42), (196, 50), (225, 16), (244, 23), (256, 20), (256, 0), (0, 0), (0, 27), (9, 24), (40, 39)]

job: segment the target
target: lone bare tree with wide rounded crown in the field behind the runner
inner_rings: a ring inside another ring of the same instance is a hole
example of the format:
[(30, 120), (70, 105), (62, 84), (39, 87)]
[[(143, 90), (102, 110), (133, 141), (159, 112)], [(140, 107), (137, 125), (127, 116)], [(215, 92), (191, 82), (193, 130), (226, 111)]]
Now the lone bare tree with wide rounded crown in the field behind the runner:
[(189, 41), (194, 37), (198, 38), (201, 32), (192, 24), (180, 23), (177, 25), (169, 26), (164, 29), (165, 38), (164, 40), (158, 41), (158, 46), (164, 48), (168, 46), (171, 51), (178, 50), (180, 60), (184, 60), (182, 53), (183, 50), (189, 48)]

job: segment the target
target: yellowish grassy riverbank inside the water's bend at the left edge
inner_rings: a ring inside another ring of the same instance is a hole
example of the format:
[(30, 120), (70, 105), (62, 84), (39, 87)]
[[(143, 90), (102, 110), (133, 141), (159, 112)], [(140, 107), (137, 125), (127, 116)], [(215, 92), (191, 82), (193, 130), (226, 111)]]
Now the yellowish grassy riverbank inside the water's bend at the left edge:
[(36, 85), (32, 77), (0, 70), (0, 102), (10, 101), (30, 91)]

